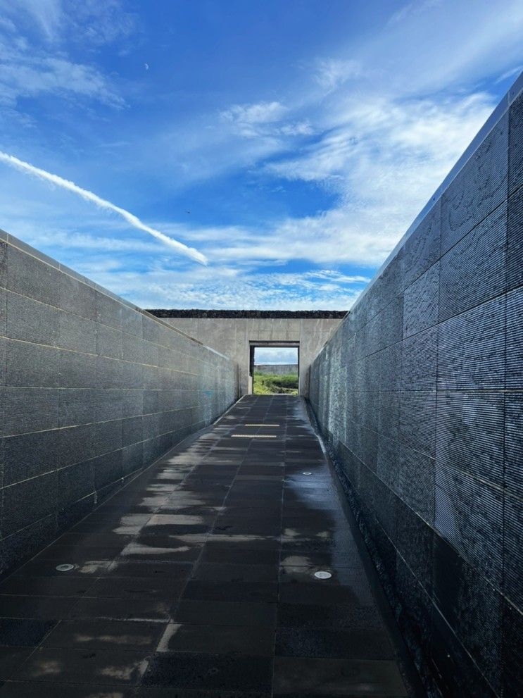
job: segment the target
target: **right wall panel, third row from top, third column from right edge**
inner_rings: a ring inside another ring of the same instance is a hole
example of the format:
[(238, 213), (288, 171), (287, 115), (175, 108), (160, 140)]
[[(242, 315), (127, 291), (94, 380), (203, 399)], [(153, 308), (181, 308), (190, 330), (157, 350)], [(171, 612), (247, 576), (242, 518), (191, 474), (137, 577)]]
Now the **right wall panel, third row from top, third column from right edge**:
[(401, 359), (402, 390), (436, 389), (437, 328), (403, 339)]

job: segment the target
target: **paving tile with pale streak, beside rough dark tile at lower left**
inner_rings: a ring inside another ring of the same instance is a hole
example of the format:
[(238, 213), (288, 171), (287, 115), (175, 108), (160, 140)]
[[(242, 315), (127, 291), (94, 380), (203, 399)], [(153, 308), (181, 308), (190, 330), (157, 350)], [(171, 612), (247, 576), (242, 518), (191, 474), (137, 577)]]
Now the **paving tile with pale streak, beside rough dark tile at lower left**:
[(63, 649), (156, 649), (166, 625), (137, 621), (61, 621), (42, 643)]

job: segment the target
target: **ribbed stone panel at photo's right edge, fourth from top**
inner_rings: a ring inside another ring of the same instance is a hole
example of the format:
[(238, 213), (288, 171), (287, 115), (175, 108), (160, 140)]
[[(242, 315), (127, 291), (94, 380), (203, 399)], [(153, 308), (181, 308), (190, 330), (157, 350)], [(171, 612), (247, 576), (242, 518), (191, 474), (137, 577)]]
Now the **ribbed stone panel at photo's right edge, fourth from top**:
[(509, 494), (523, 492), (523, 392), (505, 395), (505, 487)]

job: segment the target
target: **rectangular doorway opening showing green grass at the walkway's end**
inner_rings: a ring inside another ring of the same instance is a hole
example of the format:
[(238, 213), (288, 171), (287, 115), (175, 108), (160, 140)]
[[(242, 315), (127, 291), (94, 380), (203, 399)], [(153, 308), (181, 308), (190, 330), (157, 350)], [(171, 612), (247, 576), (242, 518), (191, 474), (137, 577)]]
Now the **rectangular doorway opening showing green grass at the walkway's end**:
[(249, 393), (298, 395), (299, 342), (249, 342)]

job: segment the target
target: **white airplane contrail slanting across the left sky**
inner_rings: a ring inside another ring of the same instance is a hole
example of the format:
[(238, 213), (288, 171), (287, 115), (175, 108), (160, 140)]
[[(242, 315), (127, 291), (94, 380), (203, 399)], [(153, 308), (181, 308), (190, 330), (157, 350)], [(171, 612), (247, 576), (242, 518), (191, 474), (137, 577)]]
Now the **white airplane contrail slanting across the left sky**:
[(15, 156), (9, 155), (8, 153), (4, 153), (2, 151), (0, 151), (0, 161), (7, 163), (12, 167), (18, 168), (18, 170), (23, 170), (23, 172), (40, 177), (42, 180), (52, 182), (56, 186), (62, 187), (62, 189), (68, 189), (69, 192), (77, 194), (79, 197), (82, 197), (82, 199), (92, 201), (92, 203), (99, 206), (99, 208), (106, 208), (108, 211), (114, 211), (115, 213), (118, 213), (119, 216), (122, 216), (124, 220), (127, 220), (127, 223), (132, 225), (133, 228), (138, 228), (138, 230), (149, 232), (149, 235), (153, 235), (153, 237), (156, 237), (158, 240), (161, 240), (163, 243), (173, 247), (182, 254), (191, 257), (201, 264), (207, 264), (206, 256), (201, 254), (201, 252), (199, 252), (197, 249), (194, 249), (194, 247), (187, 247), (187, 245), (184, 245), (183, 242), (178, 242), (177, 240), (172, 239), (172, 237), (168, 237), (168, 235), (160, 232), (160, 230), (150, 228), (149, 225), (142, 223), (137, 216), (134, 216), (129, 211), (126, 211), (125, 208), (120, 208), (120, 206), (111, 204), (111, 201), (106, 201), (106, 199), (97, 197), (96, 194), (93, 194), (93, 192), (88, 192), (87, 189), (78, 187), (74, 182), (64, 180), (62, 177), (58, 177), (58, 175), (53, 175), (50, 172), (46, 172), (46, 170), (41, 170), (38, 167), (34, 167), (34, 165), (30, 165), (30, 163), (26, 163), (23, 160), (19, 160), (18, 158), (15, 158)]

